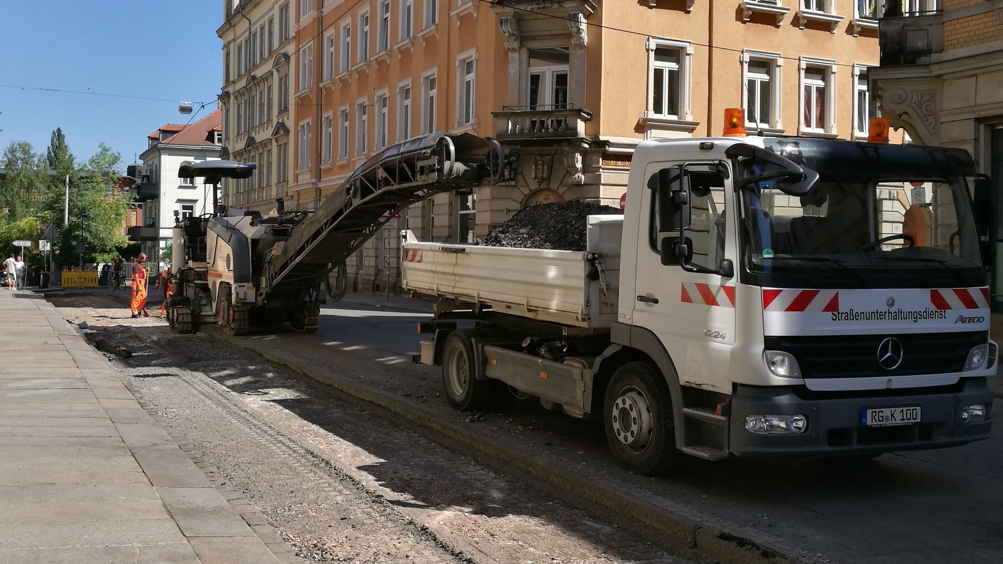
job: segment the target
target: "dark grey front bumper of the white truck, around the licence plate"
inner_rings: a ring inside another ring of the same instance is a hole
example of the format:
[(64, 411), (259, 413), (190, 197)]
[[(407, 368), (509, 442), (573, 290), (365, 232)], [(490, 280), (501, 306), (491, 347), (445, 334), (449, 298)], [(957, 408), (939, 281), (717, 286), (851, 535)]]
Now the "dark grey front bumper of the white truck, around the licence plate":
[[(993, 393), (986, 378), (965, 378), (948, 392), (917, 391), (803, 399), (788, 386), (738, 385), (731, 398), (728, 450), (738, 457), (854, 455), (939, 449), (989, 438), (991, 411), (985, 421), (962, 420), (964, 406), (992, 404)], [(862, 409), (897, 406), (922, 407), (920, 422), (861, 426)], [(745, 417), (752, 414), (801, 414), (807, 417), (807, 429), (800, 434), (753, 434), (745, 430)]]

